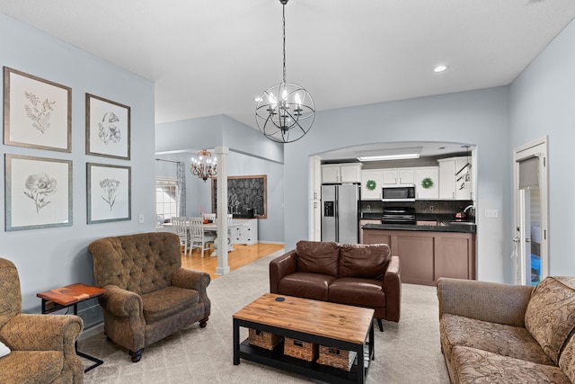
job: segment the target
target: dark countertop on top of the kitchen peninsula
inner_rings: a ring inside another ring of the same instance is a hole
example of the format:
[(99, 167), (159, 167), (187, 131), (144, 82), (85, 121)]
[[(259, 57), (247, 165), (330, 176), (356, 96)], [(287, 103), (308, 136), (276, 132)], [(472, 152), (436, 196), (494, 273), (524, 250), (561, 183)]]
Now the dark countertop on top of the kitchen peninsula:
[[(381, 219), (381, 213), (363, 212), (360, 219)], [(365, 224), (363, 229), (408, 230), (426, 232), (476, 233), (477, 226), (472, 220), (457, 220), (450, 214), (416, 214), (419, 224)]]

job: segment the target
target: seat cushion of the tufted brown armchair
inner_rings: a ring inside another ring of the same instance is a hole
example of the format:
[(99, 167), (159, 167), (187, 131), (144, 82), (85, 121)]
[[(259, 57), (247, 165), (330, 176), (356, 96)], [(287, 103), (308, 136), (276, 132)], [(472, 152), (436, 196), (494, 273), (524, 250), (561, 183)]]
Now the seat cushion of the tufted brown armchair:
[(174, 286), (142, 295), (146, 324), (171, 317), (198, 303), (199, 293), (197, 290), (186, 290)]

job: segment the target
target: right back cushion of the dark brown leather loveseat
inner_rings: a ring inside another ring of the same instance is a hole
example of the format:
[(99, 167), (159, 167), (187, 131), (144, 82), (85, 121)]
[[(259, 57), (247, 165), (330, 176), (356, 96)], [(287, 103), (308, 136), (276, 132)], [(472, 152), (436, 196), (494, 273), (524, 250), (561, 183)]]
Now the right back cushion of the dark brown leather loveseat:
[(343, 244), (340, 246), (340, 277), (384, 280), (391, 251), (386, 244)]

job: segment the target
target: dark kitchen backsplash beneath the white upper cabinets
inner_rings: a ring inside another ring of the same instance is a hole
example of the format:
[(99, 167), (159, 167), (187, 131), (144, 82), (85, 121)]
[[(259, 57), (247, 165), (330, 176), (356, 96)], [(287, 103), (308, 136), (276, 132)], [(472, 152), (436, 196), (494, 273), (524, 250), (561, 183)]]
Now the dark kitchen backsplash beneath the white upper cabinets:
[[(360, 201), (360, 212), (365, 213), (382, 213), (384, 207), (413, 207), (416, 213), (437, 213), (437, 214), (456, 214), (463, 210), (473, 201), (448, 201), (448, 200), (420, 200), (420, 201)], [(475, 212), (469, 212), (475, 215)]]

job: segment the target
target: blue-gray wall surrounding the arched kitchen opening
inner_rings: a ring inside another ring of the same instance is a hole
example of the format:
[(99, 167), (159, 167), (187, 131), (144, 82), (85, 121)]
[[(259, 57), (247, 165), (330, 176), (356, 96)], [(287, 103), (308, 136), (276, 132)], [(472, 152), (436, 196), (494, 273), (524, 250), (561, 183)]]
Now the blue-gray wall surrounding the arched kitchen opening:
[[(286, 249), (307, 237), (308, 156), (374, 142), (447, 141), (477, 146), (477, 275), (511, 281), (508, 87), (379, 103), (316, 114), (314, 127), (284, 147)], [(499, 210), (497, 219), (481, 212)]]

